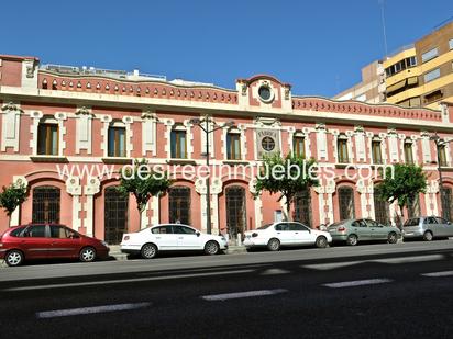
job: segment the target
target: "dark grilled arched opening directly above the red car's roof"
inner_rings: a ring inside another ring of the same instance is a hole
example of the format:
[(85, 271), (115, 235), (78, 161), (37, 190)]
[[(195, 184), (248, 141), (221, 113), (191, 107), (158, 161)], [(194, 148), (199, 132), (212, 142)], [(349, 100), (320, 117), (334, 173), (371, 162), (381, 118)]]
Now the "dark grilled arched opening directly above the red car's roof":
[(60, 210), (59, 189), (43, 185), (33, 189), (32, 223), (58, 224)]

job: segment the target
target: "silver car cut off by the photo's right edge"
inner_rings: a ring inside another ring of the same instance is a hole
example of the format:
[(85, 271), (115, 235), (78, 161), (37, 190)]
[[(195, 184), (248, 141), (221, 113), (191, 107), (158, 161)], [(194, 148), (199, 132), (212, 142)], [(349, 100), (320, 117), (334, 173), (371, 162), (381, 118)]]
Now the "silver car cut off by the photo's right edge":
[(423, 238), (426, 241), (453, 237), (453, 225), (439, 216), (415, 217), (406, 221), (402, 226), (402, 237)]

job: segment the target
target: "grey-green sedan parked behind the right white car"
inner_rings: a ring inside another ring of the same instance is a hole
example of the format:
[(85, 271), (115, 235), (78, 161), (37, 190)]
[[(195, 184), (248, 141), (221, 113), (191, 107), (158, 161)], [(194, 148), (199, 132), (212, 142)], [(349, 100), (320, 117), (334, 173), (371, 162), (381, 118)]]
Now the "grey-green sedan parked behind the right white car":
[(358, 241), (386, 240), (396, 244), (401, 233), (394, 226), (385, 226), (373, 219), (346, 219), (332, 224), (328, 228), (333, 241), (346, 241), (350, 246)]

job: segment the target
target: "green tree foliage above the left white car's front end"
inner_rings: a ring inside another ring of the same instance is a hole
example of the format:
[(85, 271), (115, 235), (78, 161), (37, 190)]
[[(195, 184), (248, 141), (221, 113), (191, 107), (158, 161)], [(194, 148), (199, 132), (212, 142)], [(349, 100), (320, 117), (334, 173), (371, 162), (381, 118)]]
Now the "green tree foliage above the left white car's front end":
[[(146, 176), (140, 176), (146, 169)], [(133, 169), (126, 168), (120, 171), (120, 185), (118, 191), (125, 196), (134, 195), (136, 207), (142, 213), (150, 199), (159, 193), (165, 193), (172, 185), (167, 173), (153, 171), (145, 159), (135, 160)]]

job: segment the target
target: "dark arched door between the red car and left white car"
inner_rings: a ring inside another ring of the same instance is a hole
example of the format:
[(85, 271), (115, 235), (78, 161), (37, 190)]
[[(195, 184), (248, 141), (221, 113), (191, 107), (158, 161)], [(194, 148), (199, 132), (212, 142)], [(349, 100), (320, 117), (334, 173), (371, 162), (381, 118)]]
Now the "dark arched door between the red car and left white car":
[(129, 199), (114, 187), (106, 189), (104, 194), (104, 240), (110, 245), (121, 242), (128, 230)]

